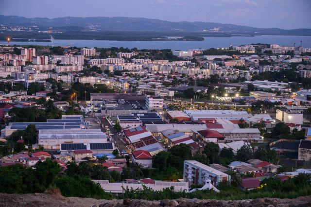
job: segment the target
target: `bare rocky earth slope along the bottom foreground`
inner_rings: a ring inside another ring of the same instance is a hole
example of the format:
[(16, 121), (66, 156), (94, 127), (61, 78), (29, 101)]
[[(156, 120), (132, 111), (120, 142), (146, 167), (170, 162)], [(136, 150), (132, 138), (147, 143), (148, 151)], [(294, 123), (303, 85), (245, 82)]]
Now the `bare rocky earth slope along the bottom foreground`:
[(254, 200), (221, 201), (176, 199), (161, 201), (145, 200), (96, 200), (92, 198), (63, 197), (57, 190), (34, 194), (0, 193), (0, 207), (306, 207), (311, 206), (311, 197), (296, 199), (262, 198)]

